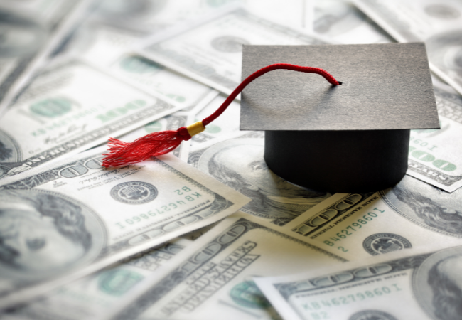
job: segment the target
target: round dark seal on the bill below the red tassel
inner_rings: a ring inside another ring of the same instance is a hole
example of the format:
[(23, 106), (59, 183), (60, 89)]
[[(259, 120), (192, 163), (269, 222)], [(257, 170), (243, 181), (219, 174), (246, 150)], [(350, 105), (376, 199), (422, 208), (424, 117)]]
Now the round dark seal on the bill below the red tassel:
[(143, 204), (156, 198), (157, 188), (141, 181), (124, 182), (111, 189), (111, 196), (122, 203)]

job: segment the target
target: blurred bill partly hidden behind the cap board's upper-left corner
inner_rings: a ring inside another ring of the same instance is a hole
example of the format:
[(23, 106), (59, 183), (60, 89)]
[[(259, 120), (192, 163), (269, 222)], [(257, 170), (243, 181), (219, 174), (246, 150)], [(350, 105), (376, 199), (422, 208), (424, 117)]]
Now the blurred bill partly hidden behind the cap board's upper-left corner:
[(241, 82), (242, 45), (308, 45), (326, 41), (237, 9), (176, 36), (147, 43), (143, 55), (229, 95)]

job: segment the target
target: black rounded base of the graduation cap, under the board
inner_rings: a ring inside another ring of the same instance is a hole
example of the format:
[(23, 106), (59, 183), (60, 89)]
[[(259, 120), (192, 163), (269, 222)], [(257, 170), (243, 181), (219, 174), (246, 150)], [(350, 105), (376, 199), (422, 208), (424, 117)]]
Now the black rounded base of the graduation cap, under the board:
[(404, 177), (409, 129), (267, 131), (264, 160), (291, 183), (330, 192), (390, 188)]

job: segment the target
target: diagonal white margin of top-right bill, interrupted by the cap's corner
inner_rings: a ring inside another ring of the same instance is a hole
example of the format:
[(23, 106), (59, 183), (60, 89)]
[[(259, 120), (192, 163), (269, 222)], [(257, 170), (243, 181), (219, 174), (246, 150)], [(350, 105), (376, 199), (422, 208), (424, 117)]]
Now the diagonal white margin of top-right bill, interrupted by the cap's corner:
[[(373, 21), (375, 21), (379, 26), (381, 26), (385, 31), (387, 31), (387, 33), (390, 33), (390, 36), (395, 38), (398, 42), (409, 42), (409, 41), (407, 41), (406, 38), (401, 36), (401, 34), (398, 31), (394, 30), (394, 28), (392, 28), (392, 26), (390, 26), (390, 23), (388, 23), (387, 21), (382, 19), (380, 16), (375, 14), (375, 11), (370, 9), (370, 7), (367, 6), (367, 4), (365, 4), (364, 1), (362, 1), (362, 0), (352, 0), (352, 1), (353, 1), (353, 4), (355, 4), (355, 6), (358, 7), (358, 9), (360, 9), (367, 16), (372, 18)], [(421, 40), (421, 41), (423, 42), (423, 40)], [(444, 73), (441, 69), (436, 67), (436, 65), (431, 63), (431, 61), (429, 61), (429, 65), (430, 65), (430, 70), (431, 71), (433, 71), (436, 75), (438, 75), (439, 78), (446, 81), (449, 85), (451, 85), (454, 89), (456, 89), (459, 94), (462, 95), (462, 86), (461, 85), (459, 85), (457, 82), (452, 80), (451, 77), (448, 77), (448, 75), (446, 75), (446, 73)]]

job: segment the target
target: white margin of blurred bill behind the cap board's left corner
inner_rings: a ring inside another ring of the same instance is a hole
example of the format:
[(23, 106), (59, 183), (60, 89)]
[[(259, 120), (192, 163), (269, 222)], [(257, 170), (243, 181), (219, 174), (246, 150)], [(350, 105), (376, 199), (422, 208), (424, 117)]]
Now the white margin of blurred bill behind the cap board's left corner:
[[(169, 38), (173, 38), (175, 36), (181, 35), (181, 33), (184, 33), (186, 31), (190, 31), (193, 28), (198, 28), (200, 26), (203, 26), (206, 23), (215, 21), (218, 18), (222, 18), (223, 16), (226, 16), (227, 14), (233, 14), (234, 12), (239, 12), (239, 11), (243, 11), (246, 14), (249, 14), (250, 16), (256, 16), (256, 15), (254, 15), (252, 13), (249, 13), (249, 11), (246, 11), (245, 9), (242, 9), (242, 7), (238, 7), (238, 9), (230, 7), (230, 8), (227, 8), (225, 11), (220, 11), (219, 13), (210, 14), (210, 15), (206, 16), (206, 18), (203, 18), (202, 20), (198, 20), (198, 21), (188, 23), (185, 26), (183, 26), (182, 28), (176, 28), (174, 31), (173, 30), (172, 31), (166, 31), (166, 33), (162, 33), (159, 36), (155, 36), (154, 38), (150, 38), (148, 41), (143, 41), (142, 43), (139, 44), (139, 46), (134, 48), (134, 51), (136, 52), (136, 54), (144, 55), (147, 58), (149, 58), (151, 60), (154, 60), (157, 63), (160, 63), (161, 65), (165, 65), (167, 68), (171, 68), (172, 70), (176, 70), (178, 73), (182, 73), (183, 75), (186, 75), (189, 78), (192, 78), (192, 79), (194, 79), (194, 80), (196, 80), (198, 82), (201, 82), (204, 85), (208, 85), (209, 87), (213, 87), (214, 89), (219, 90), (220, 92), (223, 92), (226, 95), (230, 95), (232, 90), (230, 90), (229, 88), (227, 88), (227, 87), (225, 87), (223, 85), (220, 85), (220, 84), (218, 84), (218, 83), (216, 83), (214, 81), (208, 80), (207, 78), (205, 78), (205, 77), (203, 77), (201, 75), (198, 75), (197, 73), (194, 73), (194, 72), (192, 72), (190, 70), (187, 70), (186, 68), (178, 66), (178, 65), (176, 65), (176, 63), (172, 63), (171, 61), (169, 61), (169, 60), (167, 60), (165, 58), (162, 58), (159, 55), (155, 55), (154, 53), (150, 53), (149, 51), (145, 50), (145, 48), (147, 48), (149, 46), (152, 46), (152, 45), (154, 45), (156, 43), (160, 43), (161, 41), (168, 40)], [(261, 18), (259, 16), (257, 16), (257, 17), (260, 20), (267, 21), (267, 23), (270, 23), (270, 24), (272, 24), (274, 26), (281, 26), (279, 23), (276, 23), (274, 21), (270, 21), (267, 18)], [(326, 44), (335, 44), (335, 42), (333, 42), (331, 39), (325, 38), (323, 36), (316, 35), (314, 33), (308, 33), (306, 30), (304, 30), (302, 28), (294, 28), (294, 27), (289, 28), (289, 27), (286, 27), (286, 26), (284, 26), (284, 28), (286, 28), (288, 30), (291, 30), (292, 32), (299, 33), (302, 36), (311, 37), (311, 38), (313, 38), (314, 40), (317, 40), (317, 41), (323, 41)], [(308, 44), (307, 44), (307, 46), (308, 46)], [(240, 100), (240, 95), (237, 95), (236, 100)]]

